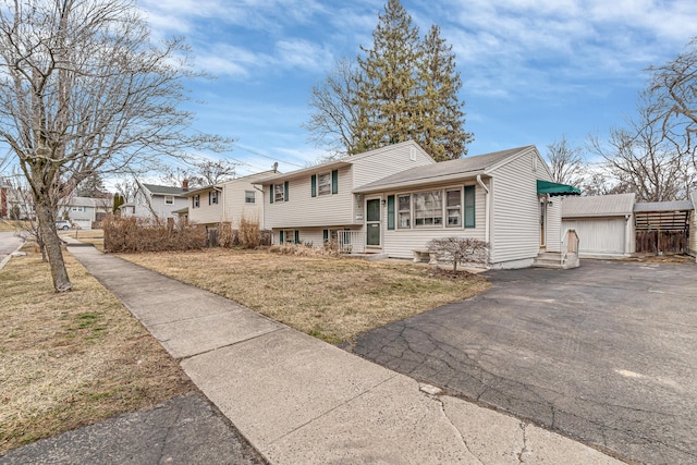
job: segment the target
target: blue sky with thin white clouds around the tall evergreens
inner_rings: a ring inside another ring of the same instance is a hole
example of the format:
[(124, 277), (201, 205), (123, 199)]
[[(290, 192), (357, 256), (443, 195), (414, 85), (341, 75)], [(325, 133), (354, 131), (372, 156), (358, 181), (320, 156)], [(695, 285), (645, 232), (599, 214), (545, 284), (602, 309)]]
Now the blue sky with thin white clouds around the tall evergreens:
[[(424, 35), (453, 46), (469, 155), (564, 135), (582, 146), (632, 115), (650, 64), (697, 36), (694, 0), (402, 0)], [(313, 84), (371, 47), (382, 0), (140, 0), (156, 37), (183, 35), (197, 68), (196, 129), (237, 138), (239, 174), (292, 171), (323, 155), (301, 124)], [(198, 101), (205, 101), (200, 105)]]

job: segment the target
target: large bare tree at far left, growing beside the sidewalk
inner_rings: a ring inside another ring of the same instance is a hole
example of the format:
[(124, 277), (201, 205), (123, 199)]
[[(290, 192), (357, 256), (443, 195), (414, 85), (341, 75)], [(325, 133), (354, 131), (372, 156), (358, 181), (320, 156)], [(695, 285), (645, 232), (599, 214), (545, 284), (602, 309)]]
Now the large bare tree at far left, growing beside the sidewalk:
[(186, 57), (182, 39), (150, 40), (134, 0), (0, 0), (0, 143), (32, 189), (57, 292), (72, 289), (61, 197), (96, 172), (227, 146), (187, 131)]

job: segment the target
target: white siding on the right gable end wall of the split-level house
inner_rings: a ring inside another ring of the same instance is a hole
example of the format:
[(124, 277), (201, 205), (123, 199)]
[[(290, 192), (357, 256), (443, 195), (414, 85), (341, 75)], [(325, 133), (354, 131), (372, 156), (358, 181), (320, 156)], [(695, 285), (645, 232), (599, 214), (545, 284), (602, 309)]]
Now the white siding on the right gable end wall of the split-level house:
[[(539, 200), (537, 180), (551, 181), (547, 170), (533, 171), (533, 148), (491, 171), (491, 262), (493, 266), (506, 261), (523, 264), (533, 259), (540, 249)], [(479, 227), (480, 223), (477, 223)]]

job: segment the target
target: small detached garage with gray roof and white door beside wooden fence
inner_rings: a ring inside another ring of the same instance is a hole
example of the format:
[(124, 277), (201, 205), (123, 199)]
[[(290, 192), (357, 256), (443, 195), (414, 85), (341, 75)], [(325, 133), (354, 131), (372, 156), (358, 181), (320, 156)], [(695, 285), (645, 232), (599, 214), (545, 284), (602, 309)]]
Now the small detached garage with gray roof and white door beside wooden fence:
[(624, 257), (634, 252), (634, 194), (566, 197), (562, 230), (578, 234), (580, 258)]

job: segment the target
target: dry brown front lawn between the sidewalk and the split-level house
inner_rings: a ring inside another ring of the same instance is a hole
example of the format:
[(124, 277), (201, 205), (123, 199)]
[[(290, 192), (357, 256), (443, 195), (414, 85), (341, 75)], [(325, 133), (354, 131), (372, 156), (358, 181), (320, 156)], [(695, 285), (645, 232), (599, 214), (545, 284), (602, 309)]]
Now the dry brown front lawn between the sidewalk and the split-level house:
[(121, 257), (231, 298), (338, 343), (489, 286), (403, 262), (303, 257), (222, 248)]

